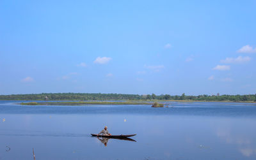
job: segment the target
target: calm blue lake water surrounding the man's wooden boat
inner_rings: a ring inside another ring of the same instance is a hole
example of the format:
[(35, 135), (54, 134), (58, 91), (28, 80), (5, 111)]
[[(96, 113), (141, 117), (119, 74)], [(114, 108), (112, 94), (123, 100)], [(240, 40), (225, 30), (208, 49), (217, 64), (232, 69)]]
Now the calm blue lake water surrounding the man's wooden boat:
[[(256, 159), (256, 105), (21, 106), (0, 101), (0, 159)], [(90, 133), (137, 134), (136, 142)]]

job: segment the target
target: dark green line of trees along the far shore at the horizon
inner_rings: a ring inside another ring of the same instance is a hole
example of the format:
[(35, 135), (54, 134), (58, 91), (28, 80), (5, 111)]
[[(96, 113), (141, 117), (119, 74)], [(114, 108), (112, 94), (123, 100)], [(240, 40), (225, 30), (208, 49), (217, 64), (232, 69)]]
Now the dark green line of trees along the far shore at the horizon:
[(256, 94), (170, 96), (169, 94), (100, 94), (100, 93), (42, 93), (0, 95), (0, 100), (190, 100), (190, 101), (256, 101)]

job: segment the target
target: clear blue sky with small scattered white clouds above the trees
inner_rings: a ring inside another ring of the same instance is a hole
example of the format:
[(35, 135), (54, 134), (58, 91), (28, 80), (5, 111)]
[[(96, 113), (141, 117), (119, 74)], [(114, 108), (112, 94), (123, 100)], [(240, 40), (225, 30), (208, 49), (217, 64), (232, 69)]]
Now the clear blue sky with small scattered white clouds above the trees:
[(1, 1), (0, 94), (255, 94), (256, 1)]

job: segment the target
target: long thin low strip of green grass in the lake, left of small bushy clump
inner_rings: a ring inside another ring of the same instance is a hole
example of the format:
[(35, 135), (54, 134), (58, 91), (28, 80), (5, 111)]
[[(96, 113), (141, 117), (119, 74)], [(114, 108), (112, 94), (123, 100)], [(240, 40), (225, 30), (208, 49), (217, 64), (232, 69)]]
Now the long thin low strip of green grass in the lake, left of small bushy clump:
[(61, 102), (28, 102), (20, 105), (152, 105), (136, 101), (61, 101)]

